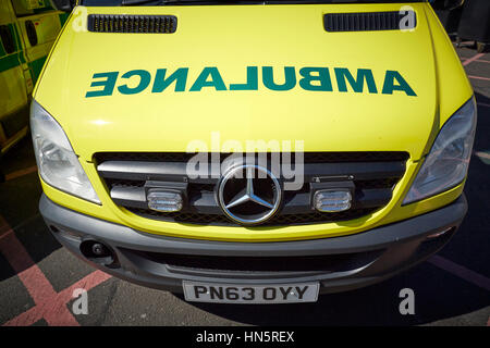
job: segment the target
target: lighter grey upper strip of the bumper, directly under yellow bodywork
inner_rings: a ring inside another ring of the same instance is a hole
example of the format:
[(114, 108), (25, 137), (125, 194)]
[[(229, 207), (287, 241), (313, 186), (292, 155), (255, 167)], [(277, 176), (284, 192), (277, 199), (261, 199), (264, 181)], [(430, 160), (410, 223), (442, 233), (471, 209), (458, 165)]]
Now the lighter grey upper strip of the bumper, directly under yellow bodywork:
[(360, 252), (407, 243), (460, 225), (466, 214), (467, 202), (463, 195), (439, 210), (355, 235), (277, 243), (230, 243), (152, 235), (60, 207), (45, 195), (40, 199), (39, 210), (48, 225), (52, 223), (68, 231), (101, 238), (118, 247), (183, 254), (272, 257)]

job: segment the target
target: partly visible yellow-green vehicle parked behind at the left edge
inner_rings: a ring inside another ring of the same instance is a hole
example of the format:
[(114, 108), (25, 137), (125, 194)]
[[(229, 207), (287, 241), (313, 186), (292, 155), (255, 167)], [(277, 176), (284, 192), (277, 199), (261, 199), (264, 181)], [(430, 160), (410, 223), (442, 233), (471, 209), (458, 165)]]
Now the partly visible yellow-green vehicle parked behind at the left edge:
[(0, 0), (0, 148), (27, 134), (30, 95), (69, 14), (49, 0)]

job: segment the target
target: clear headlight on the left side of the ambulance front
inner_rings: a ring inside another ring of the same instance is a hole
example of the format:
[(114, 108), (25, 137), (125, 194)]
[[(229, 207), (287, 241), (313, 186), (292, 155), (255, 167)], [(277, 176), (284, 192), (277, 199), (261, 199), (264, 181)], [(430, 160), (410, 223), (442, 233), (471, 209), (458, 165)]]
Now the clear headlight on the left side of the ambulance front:
[(42, 179), (68, 194), (100, 203), (63, 129), (34, 100), (30, 105), (30, 132)]

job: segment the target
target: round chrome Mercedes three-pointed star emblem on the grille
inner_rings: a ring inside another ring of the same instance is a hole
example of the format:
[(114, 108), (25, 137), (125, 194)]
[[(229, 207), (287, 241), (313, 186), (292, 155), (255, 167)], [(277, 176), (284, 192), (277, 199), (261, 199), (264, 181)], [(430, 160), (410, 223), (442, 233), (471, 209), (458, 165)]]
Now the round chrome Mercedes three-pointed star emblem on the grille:
[(281, 203), (281, 185), (267, 169), (241, 164), (229, 170), (219, 183), (218, 200), (223, 212), (243, 225), (270, 219)]

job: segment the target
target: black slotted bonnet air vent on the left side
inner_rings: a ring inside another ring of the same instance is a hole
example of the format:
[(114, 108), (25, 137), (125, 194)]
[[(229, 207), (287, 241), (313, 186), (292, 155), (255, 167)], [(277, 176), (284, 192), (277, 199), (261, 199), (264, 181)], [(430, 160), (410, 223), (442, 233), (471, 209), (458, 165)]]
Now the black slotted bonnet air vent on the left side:
[(95, 33), (170, 34), (175, 29), (173, 15), (88, 15), (88, 30)]

